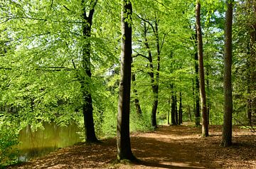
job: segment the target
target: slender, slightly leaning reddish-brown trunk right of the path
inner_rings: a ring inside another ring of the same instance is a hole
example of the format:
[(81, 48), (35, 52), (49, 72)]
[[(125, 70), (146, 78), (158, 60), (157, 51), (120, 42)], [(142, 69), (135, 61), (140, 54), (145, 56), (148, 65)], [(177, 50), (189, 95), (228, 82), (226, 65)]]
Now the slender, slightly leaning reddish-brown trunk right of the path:
[(207, 137), (208, 133), (208, 118), (207, 118), (207, 107), (206, 107), (206, 88), (205, 88), (205, 77), (203, 70), (203, 38), (201, 31), (201, 4), (200, 0), (196, 4), (196, 32), (198, 39), (198, 61), (199, 61), (199, 75), (200, 75), (200, 99), (201, 99), (201, 112), (202, 112), (202, 136)]

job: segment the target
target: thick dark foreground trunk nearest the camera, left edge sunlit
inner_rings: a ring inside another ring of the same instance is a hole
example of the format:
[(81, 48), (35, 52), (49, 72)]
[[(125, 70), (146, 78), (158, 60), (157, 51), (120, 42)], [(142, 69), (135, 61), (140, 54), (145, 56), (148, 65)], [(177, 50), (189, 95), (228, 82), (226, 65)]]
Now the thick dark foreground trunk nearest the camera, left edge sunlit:
[(132, 62), (132, 4), (122, 0), (122, 50), (121, 50), (121, 80), (119, 83), (119, 99), (117, 114), (117, 159), (135, 160), (132, 154), (129, 137), (129, 111), (131, 90)]

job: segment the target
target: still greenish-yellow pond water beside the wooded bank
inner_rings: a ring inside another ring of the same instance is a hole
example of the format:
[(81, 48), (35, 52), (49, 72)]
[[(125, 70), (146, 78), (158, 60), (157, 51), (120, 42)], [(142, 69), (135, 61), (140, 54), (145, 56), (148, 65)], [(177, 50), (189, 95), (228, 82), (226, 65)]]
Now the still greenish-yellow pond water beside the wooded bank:
[(80, 130), (75, 124), (58, 126), (54, 123), (44, 123), (43, 127), (44, 130), (32, 131), (31, 126), (27, 126), (20, 132), (21, 144), (18, 146), (20, 152), (18, 160), (27, 161), (31, 158), (42, 157), (58, 148), (82, 141), (78, 135)]

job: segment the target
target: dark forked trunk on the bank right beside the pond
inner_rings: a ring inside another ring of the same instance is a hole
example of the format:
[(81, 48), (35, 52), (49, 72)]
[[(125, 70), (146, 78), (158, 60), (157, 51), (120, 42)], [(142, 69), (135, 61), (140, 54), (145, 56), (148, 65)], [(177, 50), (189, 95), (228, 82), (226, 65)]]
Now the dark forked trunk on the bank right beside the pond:
[(97, 0), (92, 2), (90, 6), (89, 15), (87, 16), (85, 10), (85, 1), (82, 0), (82, 18), (84, 23), (82, 24), (82, 36), (87, 39), (82, 46), (82, 68), (85, 71), (85, 76), (80, 77), (80, 84), (82, 89), (82, 114), (84, 116), (85, 126), (85, 142), (98, 142), (95, 135), (95, 127), (92, 115), (92, 95), (90, 94), (90, 80), (91, 80), (91, 69), (90, 69), (90, 54), (91, 54), (91, 28), (92, 28), (92, 17), (95, 11)]

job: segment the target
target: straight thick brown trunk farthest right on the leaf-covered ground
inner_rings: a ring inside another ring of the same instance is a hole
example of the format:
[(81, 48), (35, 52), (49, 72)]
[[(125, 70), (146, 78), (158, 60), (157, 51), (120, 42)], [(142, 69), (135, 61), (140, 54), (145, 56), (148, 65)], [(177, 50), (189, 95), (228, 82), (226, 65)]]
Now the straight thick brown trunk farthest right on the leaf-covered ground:
[(222, 146), (232, 145), (232, 20), (233, 20), (233, 0), (227, 0), (228, 9), (225, 13), (225, 48), (224, 48), (224, 118), (223, 118), (223, 135)]

